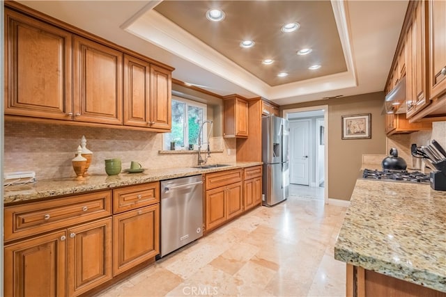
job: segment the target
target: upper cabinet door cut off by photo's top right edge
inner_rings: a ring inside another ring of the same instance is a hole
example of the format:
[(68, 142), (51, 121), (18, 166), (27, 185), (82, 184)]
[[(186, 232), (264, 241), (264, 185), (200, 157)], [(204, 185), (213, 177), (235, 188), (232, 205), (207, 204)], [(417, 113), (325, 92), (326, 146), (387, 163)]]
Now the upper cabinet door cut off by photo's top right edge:
[(429, 1), (430, 97), (446, 92), (446, 1)]

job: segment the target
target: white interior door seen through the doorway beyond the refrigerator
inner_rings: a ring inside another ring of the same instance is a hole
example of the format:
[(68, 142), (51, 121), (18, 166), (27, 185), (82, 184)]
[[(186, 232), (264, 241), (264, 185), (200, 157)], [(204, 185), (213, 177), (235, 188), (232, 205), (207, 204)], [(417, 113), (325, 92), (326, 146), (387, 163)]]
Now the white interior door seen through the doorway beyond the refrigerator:
[(290, 122), (290, 183), (309, 186), (309, 120)]

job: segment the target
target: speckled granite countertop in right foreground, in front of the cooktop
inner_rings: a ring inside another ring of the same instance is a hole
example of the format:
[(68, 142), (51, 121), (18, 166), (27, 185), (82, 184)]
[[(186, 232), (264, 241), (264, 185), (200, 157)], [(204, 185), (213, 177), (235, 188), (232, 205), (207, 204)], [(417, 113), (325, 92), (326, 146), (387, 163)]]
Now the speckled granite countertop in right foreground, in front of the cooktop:
[(446, 192), (357, 179), (334, 259), (446, 292)]

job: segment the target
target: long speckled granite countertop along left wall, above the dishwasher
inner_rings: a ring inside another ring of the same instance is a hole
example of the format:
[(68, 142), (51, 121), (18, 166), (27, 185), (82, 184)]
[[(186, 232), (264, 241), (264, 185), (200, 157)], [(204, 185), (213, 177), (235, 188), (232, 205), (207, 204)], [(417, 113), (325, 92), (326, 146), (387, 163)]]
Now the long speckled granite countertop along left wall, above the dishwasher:
[(37, 181), (34, 184), (15, 185), (3, 188), (3, 202), (5, 206), (8, 206), (8, 204), (15, 204), (16, 202), (24, 202), (26, 200), (98, 191), (115, 188), (117, 186), (144, 184), (146, 182), (156, 182), (163, 179), (201, 175), (203, 173), (245, 168), (261, 164), (261, 162), (237, 162), (231, 163), (229, 166), (210, 169), (198, 169), (192, 168), (192, 166), (187, 168), (149, 169), (143, 173), (121, 172), (119, 175), (112, 176), (92, 175), (81, 181), (77, 181), (74, 178), (46, 179)]

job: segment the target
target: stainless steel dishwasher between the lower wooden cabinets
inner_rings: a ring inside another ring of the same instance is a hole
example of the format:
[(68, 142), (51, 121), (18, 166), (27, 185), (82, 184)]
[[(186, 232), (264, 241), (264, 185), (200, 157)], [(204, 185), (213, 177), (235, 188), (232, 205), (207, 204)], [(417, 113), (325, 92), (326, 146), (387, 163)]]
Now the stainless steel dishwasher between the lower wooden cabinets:
[(203, 236), (201, 175), (161, 182), (161, 252), (164, 257)]

